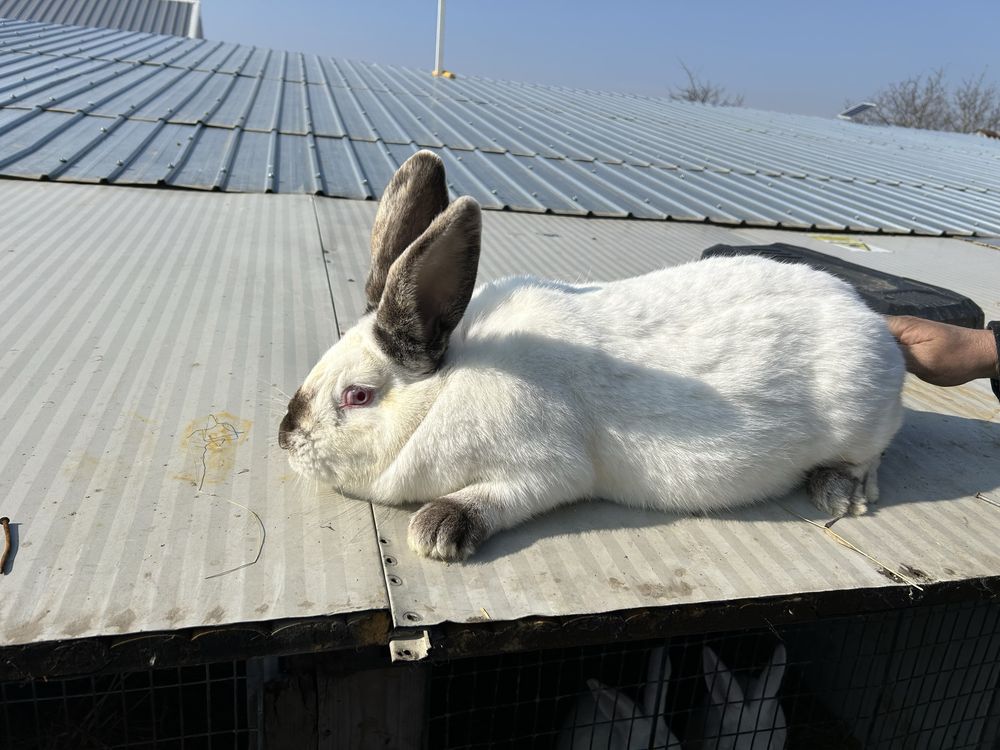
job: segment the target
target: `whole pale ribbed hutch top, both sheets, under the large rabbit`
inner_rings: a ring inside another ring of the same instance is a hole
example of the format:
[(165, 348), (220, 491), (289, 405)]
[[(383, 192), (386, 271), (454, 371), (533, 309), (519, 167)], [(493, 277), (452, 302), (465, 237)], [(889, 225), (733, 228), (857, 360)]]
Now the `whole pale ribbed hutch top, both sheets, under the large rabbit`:
[[(275, 445), (285, 393), (334, 340), (335, 321), (360, 314), (373, 204), (26, 181), (0, 182), (0, 203), (0, 499), (20, 542), (0, 643), (368, 609), (412, 626), (407, 612), (426, 625), (893, 585), (776, 505), (694, 519), (580, 504), (498, 535), (467, 564), (417, 559), (407, 512), (291, 482)], [(770, 239), (494, 212), (482, 279), (609, 279)], [(896, 244), (852, 260), (940, 283), (940, 257), (953, 254), (949, 284), (995, 301), (1000, 253), (868, 239)], [(1000, 409), (983, 384), (910, 383), (906, 397), (883, 503), (837, 531), (929, 580), (1000, 575), (1000, 515), (975, 496), (1000, 497)], [(819, 518), (801, 494), (784, 504)], [(254, 559), (260, 527), (247, 509), (267, 533), (259, 561), (209, 578)], [(400, 583), (387, 592), (389, 573)]]

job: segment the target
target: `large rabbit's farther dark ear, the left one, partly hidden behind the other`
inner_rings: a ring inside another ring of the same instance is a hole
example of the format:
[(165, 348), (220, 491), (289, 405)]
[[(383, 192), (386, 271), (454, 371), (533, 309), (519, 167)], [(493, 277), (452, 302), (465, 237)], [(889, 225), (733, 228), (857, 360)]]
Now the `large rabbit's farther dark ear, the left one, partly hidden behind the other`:
[(396, 170), (372, 226), (372, 264), (365, 282), (368, 312), (378, 307), (392, 264), (447, 206), (444, 164), (436, 154), (418, 151)]

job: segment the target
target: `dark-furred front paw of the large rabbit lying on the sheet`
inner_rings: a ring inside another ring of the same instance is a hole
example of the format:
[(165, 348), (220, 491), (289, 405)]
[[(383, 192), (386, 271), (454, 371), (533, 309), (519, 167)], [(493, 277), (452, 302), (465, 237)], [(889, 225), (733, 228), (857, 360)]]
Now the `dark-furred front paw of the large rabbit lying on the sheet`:
[(410, 518), (407, 541), (418, 555), (456, 562), (475, 551), (486, 531), (480, 514), (468, 504), (432, 500)]

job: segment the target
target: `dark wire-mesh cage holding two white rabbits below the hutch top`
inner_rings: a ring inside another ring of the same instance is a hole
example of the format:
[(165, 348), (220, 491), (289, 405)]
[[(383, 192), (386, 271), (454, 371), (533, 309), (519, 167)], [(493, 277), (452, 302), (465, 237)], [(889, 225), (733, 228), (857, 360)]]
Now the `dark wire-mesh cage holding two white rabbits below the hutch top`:
[(444, 662), (427, 747), (1000, 747), (1000, 604)]

